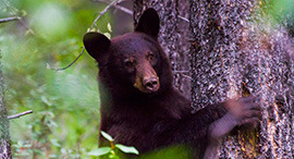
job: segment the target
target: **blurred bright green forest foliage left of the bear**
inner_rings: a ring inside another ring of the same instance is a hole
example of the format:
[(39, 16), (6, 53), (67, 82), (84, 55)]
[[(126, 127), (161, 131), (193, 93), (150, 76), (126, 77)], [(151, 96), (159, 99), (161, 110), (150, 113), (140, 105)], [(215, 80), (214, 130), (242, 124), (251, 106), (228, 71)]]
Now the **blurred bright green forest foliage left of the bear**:
[[(65, 66), (79, 54), (84, 34), (105, 7), (84, 0), (0, 1), (0, 19), (22, 16), (0, 24), (9, 114), (34, 111), (10, 121), (14, 158), (87, 158), (97, 147), (95, 60), (84, 53), (68, 70), (46, 68)], [(97, 23), (101, 33), (111, 33), (110, 13)]]

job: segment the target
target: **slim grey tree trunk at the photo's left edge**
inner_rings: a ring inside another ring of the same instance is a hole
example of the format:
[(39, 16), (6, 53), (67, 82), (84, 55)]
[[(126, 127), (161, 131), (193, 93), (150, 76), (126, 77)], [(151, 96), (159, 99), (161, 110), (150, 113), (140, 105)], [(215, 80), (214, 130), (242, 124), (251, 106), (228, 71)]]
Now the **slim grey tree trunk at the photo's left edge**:
[(4, 102), (4, 86), (3, 86), (1, 63), (0, 63), (0, 158), (1, 159), (12, 158), (10, 134), (9, 134), (9, 120)]

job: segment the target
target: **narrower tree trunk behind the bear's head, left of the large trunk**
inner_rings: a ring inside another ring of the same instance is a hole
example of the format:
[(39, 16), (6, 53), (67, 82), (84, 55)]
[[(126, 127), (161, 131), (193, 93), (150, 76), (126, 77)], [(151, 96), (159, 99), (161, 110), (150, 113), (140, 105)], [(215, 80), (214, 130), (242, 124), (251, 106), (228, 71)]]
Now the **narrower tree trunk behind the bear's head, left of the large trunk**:
[(134, 0), (135, 25), (148, 8), (154, 8), (160, 16), (159, 42), (168, 53), (174, 73), (174, 86), (191, 97), (188, 59), (188, 1), (186, 0)]

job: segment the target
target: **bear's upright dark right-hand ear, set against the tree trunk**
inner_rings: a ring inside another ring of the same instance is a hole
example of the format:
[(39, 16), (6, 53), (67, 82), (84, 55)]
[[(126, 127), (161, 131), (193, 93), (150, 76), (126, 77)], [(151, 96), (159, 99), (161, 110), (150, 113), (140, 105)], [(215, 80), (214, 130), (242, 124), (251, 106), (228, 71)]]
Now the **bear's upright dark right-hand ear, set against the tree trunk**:
[(155, 38), (159, 33), (159, 16), (155, 9), (147, 9), (140, 16), (135, 32), (145, 33)]

